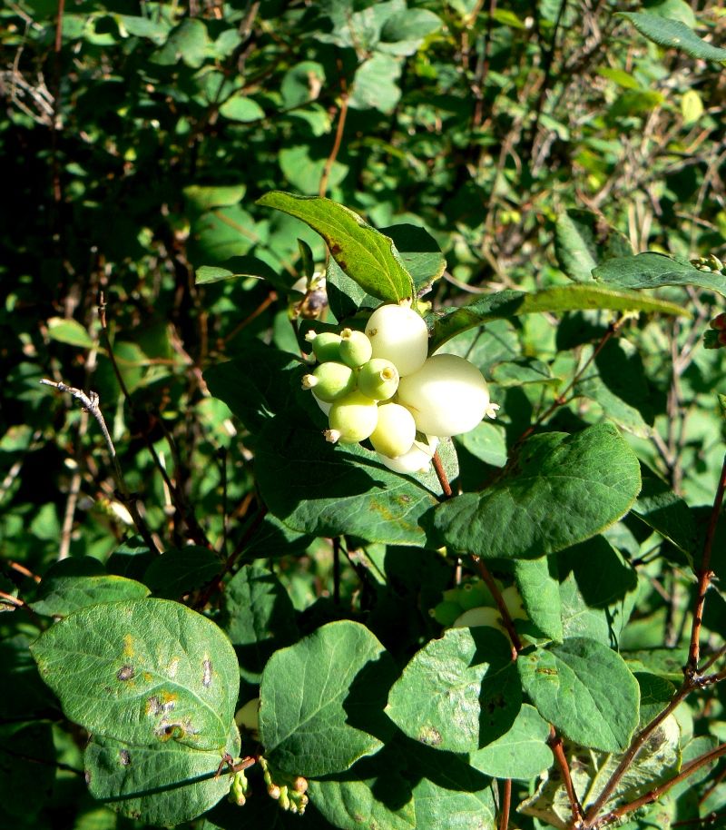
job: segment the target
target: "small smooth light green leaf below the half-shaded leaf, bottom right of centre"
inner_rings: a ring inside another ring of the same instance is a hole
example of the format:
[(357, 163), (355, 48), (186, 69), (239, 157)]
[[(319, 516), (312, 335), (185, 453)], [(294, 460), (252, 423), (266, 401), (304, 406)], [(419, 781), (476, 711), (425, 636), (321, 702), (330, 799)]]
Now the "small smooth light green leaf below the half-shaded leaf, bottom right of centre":
[(487, 776), (528, 781), (552, 766), (549, 736), (550, 725), (534, 706), (525, 704), (510, 730), (489, 746), (472, 752), (469, 764)]

